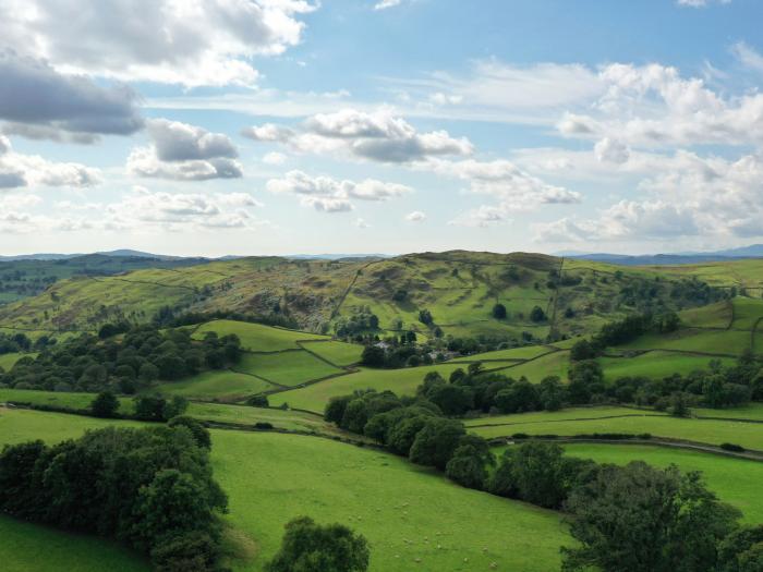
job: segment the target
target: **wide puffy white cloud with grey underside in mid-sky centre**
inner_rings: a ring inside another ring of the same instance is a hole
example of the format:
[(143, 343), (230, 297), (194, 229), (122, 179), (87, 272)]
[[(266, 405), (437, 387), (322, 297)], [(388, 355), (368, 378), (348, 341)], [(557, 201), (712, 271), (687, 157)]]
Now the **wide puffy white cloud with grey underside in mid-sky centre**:
[(343, 151), (355, 158), (391, 163), (468, 156), (474, 151), (465, 137), (451, 137), (447, 131), (419, 133), (404, 119), (385, 109), (372, 113), (342, 109), (308, 118), (300, 131), (264, 124), (242, 134), (255, 141), (286, 143), (302, 153)]

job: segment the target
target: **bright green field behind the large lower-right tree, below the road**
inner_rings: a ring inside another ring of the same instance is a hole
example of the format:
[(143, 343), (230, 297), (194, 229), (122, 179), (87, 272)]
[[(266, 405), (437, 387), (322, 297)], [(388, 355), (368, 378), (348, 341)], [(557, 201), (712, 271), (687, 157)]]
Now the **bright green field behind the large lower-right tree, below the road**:
[(598, 463), (623, 465), (630, 461), (645, 461), (655, 466), (676, 464), (682, 471), (701, 471), (707, 484), (720, 500), (742, 511), (750, 524), (763, 523), (763, 463), (732, 459), (694, 451), (637, 445), (565, 445), (568, 454), (593, 459)]

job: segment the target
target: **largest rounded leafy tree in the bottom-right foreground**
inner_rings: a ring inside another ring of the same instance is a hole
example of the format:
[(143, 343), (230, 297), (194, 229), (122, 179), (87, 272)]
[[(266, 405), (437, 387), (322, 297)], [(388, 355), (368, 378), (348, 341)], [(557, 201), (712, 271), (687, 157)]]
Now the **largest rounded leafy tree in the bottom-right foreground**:
[(711, 572), (718, 541), (739, 512), (720, 503), (699, 473), (643, 462), (604, 465), (566, 506), (577, 548), (564, 548), (565, 571)]

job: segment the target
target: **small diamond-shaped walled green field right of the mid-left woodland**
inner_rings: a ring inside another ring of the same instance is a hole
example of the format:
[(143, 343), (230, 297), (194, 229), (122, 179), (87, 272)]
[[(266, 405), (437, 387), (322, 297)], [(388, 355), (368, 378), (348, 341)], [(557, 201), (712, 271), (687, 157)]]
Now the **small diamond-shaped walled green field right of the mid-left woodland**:
[(342, 373), (342, 369), (304, 350), (277, 354), (244, 354), (234, 369), (288, 387)]

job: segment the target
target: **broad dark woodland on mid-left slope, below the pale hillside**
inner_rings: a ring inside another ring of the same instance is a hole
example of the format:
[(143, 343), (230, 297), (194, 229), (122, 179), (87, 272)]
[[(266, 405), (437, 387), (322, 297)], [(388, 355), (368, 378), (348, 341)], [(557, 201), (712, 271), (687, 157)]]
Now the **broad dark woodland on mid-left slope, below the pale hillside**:
[[(114, 328), (121, 329), (119, 325)], [(137, 326), (121, 339), (82, 334), (45, 348), (34, 358), (22, 357), (10, 372), (0, 373), (0, 387), (130, 394), (158, 379), (174, 380), (207, 368), (221, 369), (240, 358), (241, 342), (235, 334), (218, 337), (209, 332), (204, 340), (195, 341), (184, 330)]]

